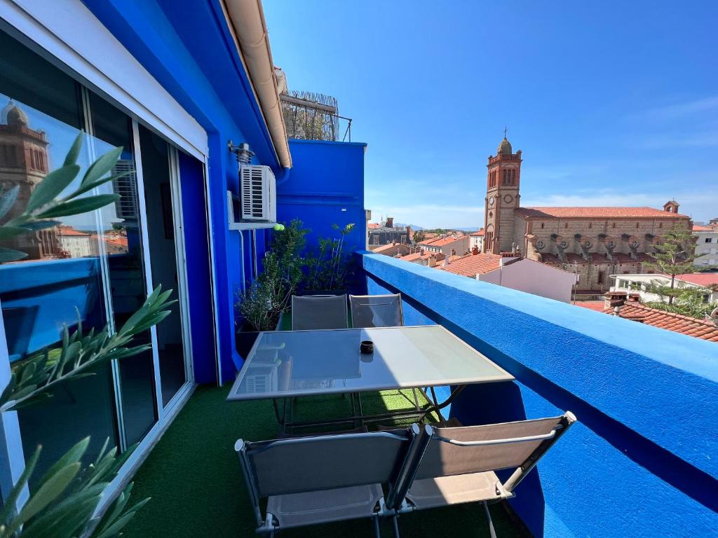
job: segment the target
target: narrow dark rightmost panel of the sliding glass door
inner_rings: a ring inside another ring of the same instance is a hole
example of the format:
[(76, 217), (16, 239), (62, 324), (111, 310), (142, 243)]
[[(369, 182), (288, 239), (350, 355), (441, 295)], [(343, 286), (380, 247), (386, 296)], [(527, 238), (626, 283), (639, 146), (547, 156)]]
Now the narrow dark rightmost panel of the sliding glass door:
[[(152, 283), (162, 284), (163, 290), (173, 289), (172, 297), (177, 298), (182, 279), (177, 270), (170, 148), (163, 138), (143, 126), (139, 126), (139, 139)], [(180, 303), (174, 303), (172, 313), (157, 326), (157, 353), (162, 405), (167, 405), (187, 381)]]

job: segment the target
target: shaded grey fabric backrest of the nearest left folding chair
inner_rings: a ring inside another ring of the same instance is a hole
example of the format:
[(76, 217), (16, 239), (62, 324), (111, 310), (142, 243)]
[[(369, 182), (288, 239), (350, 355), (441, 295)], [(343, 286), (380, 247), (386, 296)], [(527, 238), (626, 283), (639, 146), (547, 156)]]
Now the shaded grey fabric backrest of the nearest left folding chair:
[[(419, 432), (414, 425), (414, 432)], [(413, 438), (412, 429), (342, 433), (243, 443), (235, 449), (258, 497), (387, 483)]]

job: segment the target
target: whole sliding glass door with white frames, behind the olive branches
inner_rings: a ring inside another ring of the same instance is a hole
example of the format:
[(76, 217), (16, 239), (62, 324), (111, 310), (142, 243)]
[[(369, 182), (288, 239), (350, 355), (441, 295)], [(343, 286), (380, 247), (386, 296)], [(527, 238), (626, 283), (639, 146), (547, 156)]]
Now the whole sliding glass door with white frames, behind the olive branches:
[(19, 192), (0, 222), (22, 212), (81, 132), (80, 174), (65, 192), (95, 159), (120, 146), (111, 174), (123, 175), (87, 193), (120, 199), (0, 240), (1, 321), (11, 367), (46, 351), (52, 358), (63, 326), (119, 328), (159, 284), (172, 288), (178, 302), (171, 316), (136, 337), (135, 345), (152, 344), (151, 351), (60, 384), (46, 402), (19, 411), (26, 458), (44, 447), (36, 478), (43, 463), (87, 435), (90, 459), (107, 438), (121, 450), (139, 442), (192, 382), (177, 150), (0, 31), (0, 192)]

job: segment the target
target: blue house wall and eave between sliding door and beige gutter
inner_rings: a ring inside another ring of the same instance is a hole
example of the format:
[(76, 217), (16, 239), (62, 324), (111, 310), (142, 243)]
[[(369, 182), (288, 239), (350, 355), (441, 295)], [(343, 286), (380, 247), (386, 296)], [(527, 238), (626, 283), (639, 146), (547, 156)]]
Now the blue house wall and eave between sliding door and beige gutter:
[[(251, 84), (228, 33), (219, 0), (180, 2), (170, 0), (84, 0), (141, 65), (189, 112), (208, 133), (207, 181), (211, 206), (211, 236), (215, 251), (213, 282), (218, 319), (218, 353), (223, 379), (233, 379), (235, 316), (233, 303), (243, 275), (251, 275), (248, 249), (241, 251), (240, 232), (228, 231), (226, 192), (238, 192), (237, 163), (227, 141), (248, 142), (256, 152), (254, 162), (271, 166), (281, 176), (279, 162), (266, 130), (264, 118), (253, 96)], [(202, 194), (197, 171), (180, 163), (183, 192)], [(192, 185), (186, 185), (192, 181)], [(203, 204), (197, 198), (183, 200), (185, 223), (199, 223)], [(196, 234), (187, 233), (187, 243)], [(251, 240), (243, 232), (245, 245)], [(258, 234), (258, 255), (264, 253), (264, 234)], [(189, 254), (189, 253), (188, 253)], [(212, 318), (206, 300), (207, 258), (187, 256), (187, 273), (192, 317), (192, 344), (195, 350), (195, 378), (216, 382), (215, 334), (210, 324), (194, 320)], [(243, 271), (243, 269), (245, 269)], [(195, 298), (195, 299), (193, 299)]]

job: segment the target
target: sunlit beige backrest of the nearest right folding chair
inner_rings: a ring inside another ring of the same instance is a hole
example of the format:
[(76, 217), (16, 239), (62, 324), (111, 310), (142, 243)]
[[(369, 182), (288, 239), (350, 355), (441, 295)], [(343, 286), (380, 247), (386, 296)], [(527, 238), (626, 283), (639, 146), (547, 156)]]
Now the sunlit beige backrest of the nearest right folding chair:
[(503, 483), (510, 492), (536, 462), (576, 422), (572, 412), (560, 417), (515, 423), (432, 428), (425, 425), (412, 443), (414, 456), (387, 497), (387, 506), (401, 504), (414, 480), (516, 468)]

